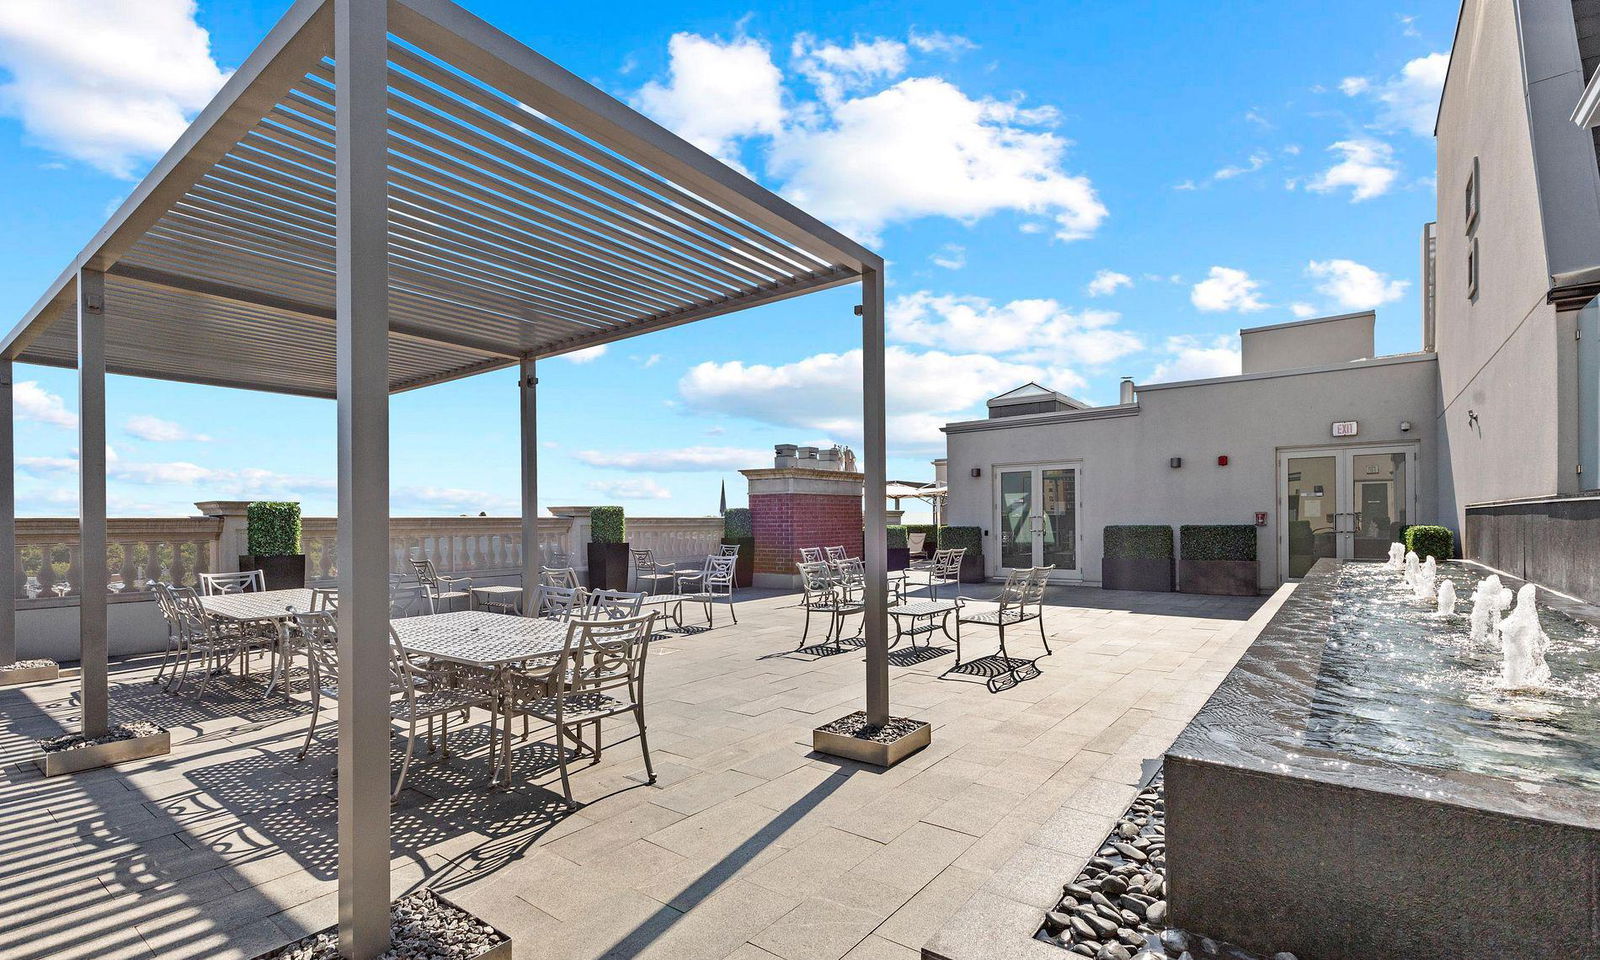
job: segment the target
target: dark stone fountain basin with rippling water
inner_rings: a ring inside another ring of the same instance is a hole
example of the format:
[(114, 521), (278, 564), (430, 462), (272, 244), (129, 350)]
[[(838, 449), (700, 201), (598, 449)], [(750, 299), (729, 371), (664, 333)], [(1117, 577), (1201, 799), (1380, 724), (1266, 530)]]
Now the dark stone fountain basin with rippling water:
[(1318, 562), (1166, 754), (1171, 922), (1301, 960), (1600, 957), (1597, 611), (1539, 600), (1555, 690), (1498, 691), (1466, 611)]

